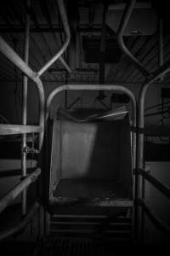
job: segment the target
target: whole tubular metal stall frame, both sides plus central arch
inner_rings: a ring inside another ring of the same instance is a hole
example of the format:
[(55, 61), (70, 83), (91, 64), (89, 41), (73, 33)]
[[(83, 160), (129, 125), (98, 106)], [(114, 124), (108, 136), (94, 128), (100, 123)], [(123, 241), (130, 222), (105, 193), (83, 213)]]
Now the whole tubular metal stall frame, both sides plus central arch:
[[(0, 135), (8, 135), (8, 134), (26, 134), (31, 132), (37, 132), (39, 133), (39, 151), (42, 148), (42, 142), (43, 142), (43, 134), (44, 134), (44, 90), (42, 86), (42, 81), (40, 79), (40, 76), (42, 73), (44, 73), (48, 67), (50, 67), (54, 61), (59, 59), (62, 61), (61, 55), (64, 53), (65, 49), (67, 48), (71, 34), (70, 34), (70, 28), (68, 25), (68, 20), (66, 18), (65, 14), (65, 6), (63, 4), (63, 1), (58, 0), (59, 3), (59, 13), (63, 22), (63, 26), (65, 29), (66, 39), (65, 44), (59, 49), (59, 52), (57, 52), (54, 57), (48, 61), (47, 64), (44, 65), (38, 72), (34, 72), (31, 67), (28, 66), (28, 53), (29, 53), (29, 18), (26, 17), (27, 23), (26, 23), (26, 44), (25, 44), (25, 61), (23, 61), (19, 55), (14, 52), (14, 49), (12, 49), (4, 40), (0, 37), (0, 51), (3, 53), (3, 55), (6, 55), (6, 57), (14, 63), (16, 67), (19, 67), (20, 70), (26, 75), (25, 76), (25, 93), (27, 97), (27, 78), (30, 78), (32, 81), (35, 82), (38, 90), (38, 96), (39, 96), (39, 124), (37, 126), (32, 125), (26, 125), (26, 101), (24, 103), (23, 107), (23, 125), (0, 125)], [(170, 72), (170, 61), (168, 61), (166, 64), (162, 65), (154, 74), (150, 74), (145, 70), (143, 65), (132, 55), (132, 53), (127, 49), (123, 42), (123, 32), (127, 26), (127, 22), (129, 20), (129, 17), (133, 11), (133, 6), (135, 4), (135, 1), (130, 1), (129, 4), (127, 4), (127, 9), (125, 10), (125, 14), (122, 17), (122, 22), (118, 30), (117, 34), (117, 40), (120, 45), (120, 48), (124, 52), (125, 55), (129, 57), (131, 61), (133, 61), (133, 64), (135, 67), (139, 69), (141, 73), (144, 74), (144, 77), (146, 80), (144, 81), (144, 84), (140, 90), (139, 93), (139, 111), (138, 111), (138, 123), (137, 123), (137, 138), (138, 141), (136, 143), (136, 100), (133, 96), (133, 93), (128, 90), (125, 87), (122, 87), (120, 85), (111, 85), (111, 84), (67, 84), (63, 86), (59, 86), (54, 91), (51, 92), (51, 94), (48, 96), (47, 104), (46, 104), (46, 120), (48, 119), (48, 110), (50, 107), (50, 104), (52, 100), (54, 99), (54, 96), (59, 93), (61, 90), (119, 90), (124, 93), (127, 93), (127, 95), (130, 97), (131, 101), (133, 102), (133, 169), (136, 168), (136, 204), (139, 207), (142, 207), (144, 212), (149, 216), (150, 219), (152, 219), (153, 223), (156, 224), (156, 226), (161, 230), (164, 231), (166, 234), (169, 235), (169, 230), (165, 226), (165, 224), (162, 224), (161, 221), (156, 218), (156, 215), (150, 211), (150, 208), (146, 205), (143, 199), (143, 184), (142, 184), (142, 178), (147, 179), (150, 183), (156, 186), (157, 189), (159, 189), (164, 195), (169, 196), (169, 188), (165, 187), (163, 184), (159, 183), (159, 181), (154, 180), (153, 177), (149, 177), (142, 172), (138, 172), (138, 170), (144, 170), (144, 99), (146, 92), (153, 82), (155, 82), (157, 79), (165, 75), (166, 73)], [(29, 5), (29, 2), (28, 2)], [(67, 66), (65, 61), (62, 61), (62, 63), (65, 65), (67, 70), (70, 72), (70, 67)], [(26, 100), (26, 98), (25, 98)], [(26, 144), (26, 136), (23, 136), (23, 145)], [(137, 154), (136, 154), (136, 145), (137, 145)], [(23, 149), (23, 148), (22, 148)], [(137, 161), (136, 161), (137, 156)], [(26, 155), (22, 155), (23, 160), (23, 170), (26, 168)], [(24, 189), (26, 189), (26, 186), (28, 186), (31, 182), (33, 182), (34, 178), (32, 177), (38, 177), (40, 174), (40, 170), (37, 169), (37, 171), (32, 172), (32, 174), (28, 177), (26, 177), (26, 172), (22, 172), (25, 176), (24, 180), (21, 181), (14, 189), (12, 189), (7, 195), (5, 195), (0, 200), (0, 209), (2, 211), (5, 209), (5, 207), (8, 206), (8, 203), (13, 200), (17, 195), (19, 195), (20, 192), (22, 192)], [(26, 196), (23, 197), (23, 205), (26, 206)], [(15, 226), (14, 228), (10, 230), (6, 230), (3, 233), (0, 233), (0, 239), (3, 239), (4, 237), (10, 236), (11, 234), (14, 234), (17, 230), (19, 230), (21, 227), (23, 227), (31, 218), (32, 214), (37, 209), (38, 204), (34, 205), (32, 207), (31, 211), (26, 215), (25, 218), (21, 221), (20, 224)], [(24, 207), (23, 212), (26, 212), (26, 207)], [(137, 218), (139, 222), (141, 222), (140, 214), (137, 214)]]

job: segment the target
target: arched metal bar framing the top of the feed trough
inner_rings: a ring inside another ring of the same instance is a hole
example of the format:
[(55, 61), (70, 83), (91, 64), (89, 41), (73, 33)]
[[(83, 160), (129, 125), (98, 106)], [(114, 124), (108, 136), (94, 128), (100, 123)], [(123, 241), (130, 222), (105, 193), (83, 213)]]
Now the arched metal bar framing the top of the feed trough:
[(51, 102), (54, 99), (59, 91), (62, 90), (117, 90), (126, 93), (127, 96), (132, 101), (133, 104), (133, 168), (136, 166), (136, 99), (131, 90), (128, 90), (126, 87), (115, 84), (65, 84), (55, 88), (48, 96), (46, 102), (46, 121), (48, 119), (48, 111), (51, 105)]

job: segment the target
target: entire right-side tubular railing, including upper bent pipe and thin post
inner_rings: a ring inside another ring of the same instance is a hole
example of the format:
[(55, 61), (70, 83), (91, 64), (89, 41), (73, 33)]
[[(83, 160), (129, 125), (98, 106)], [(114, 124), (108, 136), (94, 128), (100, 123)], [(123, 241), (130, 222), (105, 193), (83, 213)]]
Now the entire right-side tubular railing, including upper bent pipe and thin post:
[[(133, 62), (134, 67), (139, 69), (139, 71), (144, 75), (145, 81), (142, 84), (141, 89), (139, 91), (139, 109), (138, 109), (138, 119), (137, 119), (137, 162), (136, 162), (136, 181), (135, 181), (135, 202), (136, 202), (136, 211), (135, 211), (135, 227), (137, 228), (136, 234), (141, 240), (141, 234), (144, 227), (143, 218), (144, 212), (148, 215), (150, 220), (153, 224), (156, 225), (157, 229), (161, 230), (168, 236), (170, 236), (170, 227), (168, 228), (165, 224), (161, 222), (159, 218), (156, 217), (156, 214), (150, 210), (150, 207), (147, 206), (146, 202), (144, 201), (144, 179), (146, 179), (149, 183), (156, 187), (163, 195), (166, 195), (169, 199), (170, 195), (170, 188), (165, 186), (164, 184), (160, 183), (155, 177), (152, 177), (148, 173), (144, 172), (144, 100), (147, 90), (150, 87), (150, 84), (153, 84), (157, 79), (162, 78), (165, 74), (170, 72), (170, 61), (167, 61), (163, 65), (163, 52), (162, 52), (162, 24), (161, 24), (161, 31), (159, 34), (160, 40), (160, 48), (159, 48), (159, 61), (160, 66), (155, 73), (149, 73), (142, 63), (140, 63), (137, 58), (127, 49), (126, 45), (123, 41), (123, 33), (126, 29), (128, 20), (132, 15), (134, 5), (136, 0), (130, 0), (127, 3), (126, 9), (122, 16), (121, 24), (119, 26), (117, 32), (117, 41), (119, 47), (122, 49), (122, 52), (127, 55), (130, 61)], [(142, 211), (139, 208), (142, 208)], [(137, 238), (137, 239), (138, 239)]]

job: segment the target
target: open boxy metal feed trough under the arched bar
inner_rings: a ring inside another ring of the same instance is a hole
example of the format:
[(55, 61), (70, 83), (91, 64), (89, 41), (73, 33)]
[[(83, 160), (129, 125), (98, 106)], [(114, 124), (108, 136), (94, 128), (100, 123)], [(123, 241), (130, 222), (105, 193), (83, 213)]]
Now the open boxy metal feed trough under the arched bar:
[(134, 143), (127, 108), (59, 109), (52, 126), (50, 205), (133, 207)]

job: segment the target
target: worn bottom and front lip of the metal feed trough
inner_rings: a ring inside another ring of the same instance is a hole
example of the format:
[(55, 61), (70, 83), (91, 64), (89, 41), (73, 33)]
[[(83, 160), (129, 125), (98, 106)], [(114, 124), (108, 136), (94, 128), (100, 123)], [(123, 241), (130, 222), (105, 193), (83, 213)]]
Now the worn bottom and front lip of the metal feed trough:
[(50, 198), (59, 205), (88, 207), (132, 207), (122, 184), (89, 180), (61, 179)]

